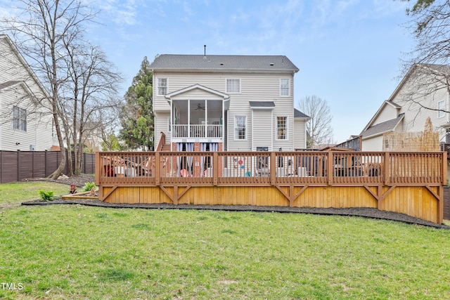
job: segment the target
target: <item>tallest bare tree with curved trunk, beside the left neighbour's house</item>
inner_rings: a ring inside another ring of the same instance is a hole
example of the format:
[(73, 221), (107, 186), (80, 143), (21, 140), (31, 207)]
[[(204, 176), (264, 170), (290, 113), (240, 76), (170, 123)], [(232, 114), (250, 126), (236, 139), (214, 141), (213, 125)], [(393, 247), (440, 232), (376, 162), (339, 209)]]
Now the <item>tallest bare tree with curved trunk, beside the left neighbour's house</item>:
[(49, 177), (58, 178), (65, 167), (63, 134), (60, 128), (60, 84), (68, 79), (65, 66), (65, 41), (82, 39), (85, 22), (95, 17), (79, 0), (17, 0), (20, 14), (2, 20), (4, 30), (11, 32), (15, 44), (27, 56), (34, 72), (47, 86), (49, 107), (61, 151), (58, 169)]

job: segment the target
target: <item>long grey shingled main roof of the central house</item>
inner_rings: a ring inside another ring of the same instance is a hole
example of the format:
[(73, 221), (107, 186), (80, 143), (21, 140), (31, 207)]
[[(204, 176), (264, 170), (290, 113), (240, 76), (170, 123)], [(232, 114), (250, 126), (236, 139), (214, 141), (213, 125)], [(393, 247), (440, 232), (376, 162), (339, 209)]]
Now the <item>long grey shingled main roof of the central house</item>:
[(234, 70), (298, 72), (286, 56), (198, 56), (162, 54), (150, 64), (151, 70)]

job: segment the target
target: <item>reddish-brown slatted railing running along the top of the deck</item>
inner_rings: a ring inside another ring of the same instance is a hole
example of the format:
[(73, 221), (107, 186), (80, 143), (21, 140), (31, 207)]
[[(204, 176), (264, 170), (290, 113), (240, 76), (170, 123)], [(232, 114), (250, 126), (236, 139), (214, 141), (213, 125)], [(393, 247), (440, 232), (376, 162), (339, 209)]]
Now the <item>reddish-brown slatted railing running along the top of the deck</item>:
[(97, 152), (97, 185), (444, 185), (445, 152)]

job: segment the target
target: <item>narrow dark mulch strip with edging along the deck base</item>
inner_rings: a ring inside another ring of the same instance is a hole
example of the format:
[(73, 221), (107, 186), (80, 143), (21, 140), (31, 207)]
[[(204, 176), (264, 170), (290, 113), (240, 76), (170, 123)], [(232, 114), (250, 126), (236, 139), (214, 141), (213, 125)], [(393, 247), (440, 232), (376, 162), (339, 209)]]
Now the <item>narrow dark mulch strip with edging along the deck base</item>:
[(362, 216), (372, 219), (384, 219), (391, 221), (399, 221), (409, 224), (430, 226), (433, 228), (450, 229), (450, 226), (444, 224), (436, 224), (430, 221), (414, 218), (406, 214), (399, 214), (392, 211), (380, 211), (368, 207), (355, 207), (348, 209), (336, 208), (314, 208), (314, 207), (257, 207), (253, 205), (189, 205), (189, 204), (125, 204), (125, 203), (106, 203), (100, 200), (91, 199), (56, 199), (51, 202), (42, 200), (32, 200), (23, 202), (23, 205), (49, 205), (49, 204), (82, 204), (92, 207), (111, 207), (111, 208), (136, 208), (136, 209), (209, 209), (221, 211), (266, 211), (266, 212), (285, 212), (285, 213), (303, 213), (303, 214), (321, 214), (321, 215), (338, 215), (338, 216)]

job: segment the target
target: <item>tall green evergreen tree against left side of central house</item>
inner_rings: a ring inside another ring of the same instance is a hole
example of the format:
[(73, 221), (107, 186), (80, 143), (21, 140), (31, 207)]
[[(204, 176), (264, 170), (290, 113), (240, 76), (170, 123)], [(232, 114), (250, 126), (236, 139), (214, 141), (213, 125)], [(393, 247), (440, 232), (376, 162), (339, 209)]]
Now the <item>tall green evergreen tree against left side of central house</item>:
[(120, 139), (129, 150), (153, 150), (155, 127), (153, 119), (153, 73), (147, 57), (125, 93), (126, 104), (120, 113)]

